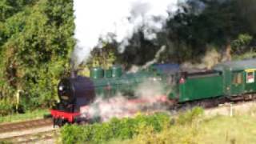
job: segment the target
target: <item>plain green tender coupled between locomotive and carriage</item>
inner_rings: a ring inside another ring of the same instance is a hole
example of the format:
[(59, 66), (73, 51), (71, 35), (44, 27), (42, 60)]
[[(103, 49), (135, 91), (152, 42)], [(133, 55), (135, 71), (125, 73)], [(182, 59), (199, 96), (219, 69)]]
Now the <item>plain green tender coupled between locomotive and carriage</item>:
[(206, 71), (183, 74), (178, 83), (178, 102), (214, 98), (223, 94), (222, 73)]

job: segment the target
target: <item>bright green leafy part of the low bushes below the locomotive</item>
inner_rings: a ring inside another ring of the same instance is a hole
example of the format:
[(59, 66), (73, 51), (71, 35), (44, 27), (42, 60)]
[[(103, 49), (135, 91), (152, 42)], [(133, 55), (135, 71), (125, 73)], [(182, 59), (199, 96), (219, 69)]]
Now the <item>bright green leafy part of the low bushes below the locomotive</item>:
[(150, 116), (138, 115), (135, 118), (113, 118), (110, 122), (95, 123), (89, 126), (64, 126), (61, 130), (63, 143), (102, 143), (110, 139), (134, 138), (142, 131), (141, 126), (150, 126), (155, 132), (161, 131), (166, 123), (170, 124), (167, 114)]

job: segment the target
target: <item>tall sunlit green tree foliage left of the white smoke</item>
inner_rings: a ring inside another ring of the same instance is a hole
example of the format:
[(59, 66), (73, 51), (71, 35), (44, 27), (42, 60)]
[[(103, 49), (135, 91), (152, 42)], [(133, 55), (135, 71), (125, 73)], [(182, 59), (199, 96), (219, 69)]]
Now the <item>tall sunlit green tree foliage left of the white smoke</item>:
[(0, 98), (13, 99), (21, 90), (22, 106), (50, 106), (74, 47), (73, 1), (17, 2), (23, 9), (6, 10), (0, 25)]

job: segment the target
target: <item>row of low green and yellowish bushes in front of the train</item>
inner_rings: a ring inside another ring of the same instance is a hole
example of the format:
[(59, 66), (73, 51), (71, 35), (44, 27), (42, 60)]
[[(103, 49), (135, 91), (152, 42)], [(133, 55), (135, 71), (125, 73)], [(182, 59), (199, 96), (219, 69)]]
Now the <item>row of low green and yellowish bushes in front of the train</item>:
[[(149, 134), (157, 134), (173, 126), (193, 126), (203, 110), (194, 108), (178, 118), (170, 118), (167, 114), (137, 115), (135, 118), (113, 118), (110, 122), (95, 123), (88, 126), (64, 126), (61, 130), (63, 143), (104, 143), (113, 139), (126, 140), (130, 138), (144, 139), (142, 142), (157, 142)], [(154, 141), (153, 141), (154, 140)], [(190, 142), (190, 141), (188, 141)], [(161, 142), (160, 142), (161, 143)]]

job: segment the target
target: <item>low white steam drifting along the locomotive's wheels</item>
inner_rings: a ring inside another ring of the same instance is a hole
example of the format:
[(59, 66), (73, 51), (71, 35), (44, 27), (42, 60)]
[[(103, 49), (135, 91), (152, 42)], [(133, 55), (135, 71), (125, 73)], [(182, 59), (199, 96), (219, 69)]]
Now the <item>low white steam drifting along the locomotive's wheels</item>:
[(136, 99), (128, 99), (122, 94), (116, 94), (112, 98), (102, 99), (98, 97), (90, 106), (82, 107), (81, 113), (86, 118), (101, 118), (106, 122), (110, 118), (132, 117), (138, 112), (166, 111), (169, 101), (163, 94), (162, 85), (158, 81), (142, 82), (136, 90)]

